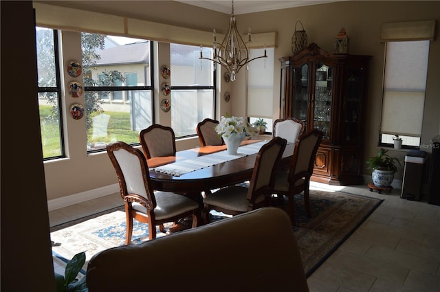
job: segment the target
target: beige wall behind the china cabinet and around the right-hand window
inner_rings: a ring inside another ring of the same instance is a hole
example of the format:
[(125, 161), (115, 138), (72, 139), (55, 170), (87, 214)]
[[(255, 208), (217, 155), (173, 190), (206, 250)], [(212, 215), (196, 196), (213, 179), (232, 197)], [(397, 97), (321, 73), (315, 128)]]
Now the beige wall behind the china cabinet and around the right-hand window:
[[(240, 27), (252, 27), (254, 32), (278, 32), (278, 47), (275, 60), (292, 54), (292, 35), (296, 21), (300, 20), (307, 32), (309, 43), (317, 43), (327, 52), (333, 52), (336, 34), (345, 27), (350, 37), (350, 53), (373, 56), (370, 63), (369, 100), (366, 115), (366, 135), (364, 157), (377, 153), (377, 140), (382, 104), (382, 70), (384, 65), (384, 43), (380, 43), (380, 27), (385, 22), (437, 20), (440, 22), (440, 1), (343, 1), (303, 8), (292, 8), (240, 15)], [(428, 81), (426, 85), (425, 112), (421, 144), (428, 146), (430, 139), (440, 133), (440, 37), (430, 44)], [(280, 63), (275, 62), (274, 84), (280, 84)], [(237, 78), (240, 80), (240, 78)], [(238, 82), (237, 87), (243, 87)], [(234, 87), (235, 91), (235, 87)], [(279, 87), (274, 87), (274, 109), (279, 106)], [(430, 148), (423, 148), (431, 152)], [(405, 150), (391, 150), (391, 155), (399, 157), (403, 166)], [(428, 164), (426, 164), (428, 166)], [(426, 168), (428, 169), (428, 168)], [(364, 174), (370, 174), (364, 169)], [(395, 178), (401, 179), (403, 168), (399, 168)]]

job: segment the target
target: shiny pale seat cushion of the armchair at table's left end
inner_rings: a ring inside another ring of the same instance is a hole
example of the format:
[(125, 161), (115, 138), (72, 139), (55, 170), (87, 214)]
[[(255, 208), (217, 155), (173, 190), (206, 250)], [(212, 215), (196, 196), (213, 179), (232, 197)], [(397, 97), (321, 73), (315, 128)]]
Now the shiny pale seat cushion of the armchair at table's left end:
[[(157, 203), (154, 214), (157, 220), (171, 218), (199, 207), (196, 201), (174, 192), (155, 192), (154, 195)], [(146, 207), (140, 203), (133, 203), (132, 206), (134, 210), (146, 214)]]

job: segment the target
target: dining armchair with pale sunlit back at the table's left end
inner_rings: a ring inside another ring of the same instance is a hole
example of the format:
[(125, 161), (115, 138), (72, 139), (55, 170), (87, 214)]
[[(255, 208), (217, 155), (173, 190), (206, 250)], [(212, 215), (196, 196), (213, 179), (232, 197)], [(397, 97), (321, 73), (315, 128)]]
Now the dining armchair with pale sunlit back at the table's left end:
[(164, 232), (164, 223), (192, 216), (197, 226), (199, 204), (174, 192), (153, 191), (148, 164), (142, 151), (124, 142), (107, 145), (107, 153), (118, 176), (126, 214), (125, 244), (131, 243), (133, 219), (148, 224), (148, 236), (156, 237), (156, 225)]

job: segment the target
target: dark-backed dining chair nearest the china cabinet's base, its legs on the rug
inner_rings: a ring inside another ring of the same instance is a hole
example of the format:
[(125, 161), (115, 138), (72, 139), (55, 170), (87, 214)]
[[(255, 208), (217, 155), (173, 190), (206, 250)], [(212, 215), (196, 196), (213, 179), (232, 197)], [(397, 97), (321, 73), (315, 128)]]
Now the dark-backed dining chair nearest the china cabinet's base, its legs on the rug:
[(295, 194), (304, 192), (305, 210), (307, 215), (311, 217), (309, 198), (310, 177), (314, 172), (316, 152), (322, 140), (322, 135), (324, 133), (316, 128), (301, 135), (296, 144), (289, 167), (282, 168), (275, 173), (273, 194), (277, 194), (278, 197), (288, 197), (292, 226), (296, 225)]

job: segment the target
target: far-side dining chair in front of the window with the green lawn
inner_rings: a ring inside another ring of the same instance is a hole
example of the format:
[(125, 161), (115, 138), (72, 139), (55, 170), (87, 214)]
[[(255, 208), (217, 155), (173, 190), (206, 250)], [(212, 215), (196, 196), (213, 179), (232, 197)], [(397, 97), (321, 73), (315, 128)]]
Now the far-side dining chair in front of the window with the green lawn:
[(139, 141), (146, 159), (176, 155), (176, 141), (173, 128), (153, 124), (139, 132)]

